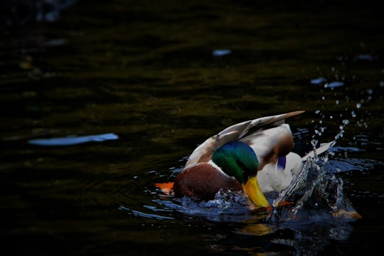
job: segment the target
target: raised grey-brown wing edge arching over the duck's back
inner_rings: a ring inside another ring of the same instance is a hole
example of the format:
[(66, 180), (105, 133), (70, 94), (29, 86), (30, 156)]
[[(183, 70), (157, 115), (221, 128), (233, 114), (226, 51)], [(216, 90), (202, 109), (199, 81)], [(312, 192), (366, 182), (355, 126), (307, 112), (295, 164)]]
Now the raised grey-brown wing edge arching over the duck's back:
[[(245, 138), (250, 134), (257, 131), (268, 129), (270, 127), (277, 127), (284, 124), (284, 119), (292, 117), (297, 114), (302, 114), (304, 111), (289, 112), (286, 114), (277, 114), (270, 117), (260, 117), (257, 119), (234, 124), (223, 131), (215, 134), (213, 137), (207, 139), (203, 144), (199, 145), (189, 156), (186, 167), (193, 164), (207, 163), (213, 155), (213, 152), (218, 147), (223, 146), (227, 142), (238, 141)], [(290, 150), (290, 149), (289, 149)]]

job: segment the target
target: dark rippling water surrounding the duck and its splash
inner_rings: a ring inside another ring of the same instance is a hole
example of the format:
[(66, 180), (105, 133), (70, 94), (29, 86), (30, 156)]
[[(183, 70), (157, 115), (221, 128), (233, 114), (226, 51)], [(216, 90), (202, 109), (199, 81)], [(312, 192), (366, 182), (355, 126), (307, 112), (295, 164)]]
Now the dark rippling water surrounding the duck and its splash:
[[(382, 9), (360, 1), (69, 2), (46, 11), (47, 18), (31, 14), (40, 14), (36, 9), (1, 13), (7, 21), (0, 41), (4, 251), (381, 250)], [(32, 18), (20, 18), (25, 12)], [(215, 56), (219, 49), (230, 52)], [(215, 218), (175, 210), (155, 188), (173, 181), (196, 145), (224, 127), (294, 110), (306, 110), (289, 122), (297, 142), (336, 137), (324, 169), (343, 181), (343, 195), (363, 218)], [(119, 138), (28, 143), (110, 133)]]

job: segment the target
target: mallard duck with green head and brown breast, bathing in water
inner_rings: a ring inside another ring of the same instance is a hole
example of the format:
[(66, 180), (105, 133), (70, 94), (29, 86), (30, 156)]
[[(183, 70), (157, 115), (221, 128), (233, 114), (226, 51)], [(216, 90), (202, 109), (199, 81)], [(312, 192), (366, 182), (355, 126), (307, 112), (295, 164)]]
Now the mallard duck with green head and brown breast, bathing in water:
[[(292, 152), (294, 140), (285, 119), (295, 111), (234, 124), (200, 144), (189, 156), (174, 183), (174, 196), (208, 201), (222, 188), (244, 191), (259, 208), (270, 205), (265, 193), (287, 188), (302, 169), (303, 158)], [(329, 148), (323, 144), (316, 154)]]

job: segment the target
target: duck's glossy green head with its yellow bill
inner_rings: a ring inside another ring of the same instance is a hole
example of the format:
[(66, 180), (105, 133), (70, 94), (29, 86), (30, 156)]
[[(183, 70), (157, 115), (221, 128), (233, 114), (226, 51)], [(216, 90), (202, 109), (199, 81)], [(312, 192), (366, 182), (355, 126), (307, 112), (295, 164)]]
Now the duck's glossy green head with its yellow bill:
[(253, 149), (244, 142), (228, 142), (213, 153), (212, 161), (228, 174), (235, 177), (256, 206), (270, 205), (257, 183), (259, 161)]

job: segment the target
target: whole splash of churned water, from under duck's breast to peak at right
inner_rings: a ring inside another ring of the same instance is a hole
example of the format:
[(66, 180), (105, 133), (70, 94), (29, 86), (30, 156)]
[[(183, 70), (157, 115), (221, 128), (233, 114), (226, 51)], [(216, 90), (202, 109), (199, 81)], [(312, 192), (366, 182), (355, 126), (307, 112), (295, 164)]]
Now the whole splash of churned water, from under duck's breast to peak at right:
[[(313, 145), (316, 146), (316, 141)], [(256, 216), (270, 223), (303, 221), (321, 215), (342, 221), (361, 218), (344, 196), (342, 179), (324, 168), (327, 161), (327, 152), (321, 157), (316, 153), (309, 157), (288, 188), (279, 194), (266, 195), (272, 203), (268, 209), (252, 210), (241, 191), (223, 189), (211, 201), (196, 202), (188, 197), (160, 197), (153, 201), (163, 208), (213, 221), (238, 222)]]

